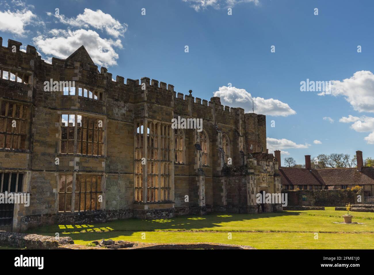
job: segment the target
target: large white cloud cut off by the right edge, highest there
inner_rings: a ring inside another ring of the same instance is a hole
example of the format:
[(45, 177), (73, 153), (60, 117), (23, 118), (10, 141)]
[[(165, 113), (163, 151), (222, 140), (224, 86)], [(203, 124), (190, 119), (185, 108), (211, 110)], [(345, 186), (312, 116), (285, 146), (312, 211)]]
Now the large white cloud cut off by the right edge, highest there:
[[(352, 77), (331, 81), (331, 95), (343, 96), (354, 110), (374, 113), (374, 75), (371, 71), (356, 71)], [(325, 92), (318, 95), (325, 95)]]

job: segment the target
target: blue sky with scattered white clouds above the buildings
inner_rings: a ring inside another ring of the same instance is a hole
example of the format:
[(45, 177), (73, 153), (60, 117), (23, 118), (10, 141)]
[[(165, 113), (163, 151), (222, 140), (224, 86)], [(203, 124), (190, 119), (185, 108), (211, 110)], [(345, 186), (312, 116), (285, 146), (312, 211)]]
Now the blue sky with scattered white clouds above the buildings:
[[(114, 79), (147, 76), (246, 111), (253, 100), (270, 150), (300, 164), (320, 153), (374, 157), (372, 1), (51, 2), (0, 1), (3, 45), (33, 45), (50, 61), (84, 44)], [(332, 93), (301, 92), (306, 79), (331, 81)]]

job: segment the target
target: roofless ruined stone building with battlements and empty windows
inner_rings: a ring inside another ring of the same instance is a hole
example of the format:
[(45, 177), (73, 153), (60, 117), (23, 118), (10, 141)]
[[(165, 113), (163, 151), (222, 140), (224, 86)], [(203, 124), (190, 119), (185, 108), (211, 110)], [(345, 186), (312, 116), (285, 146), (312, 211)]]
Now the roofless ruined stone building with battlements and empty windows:
[[(148, 77), (113, 80), (84, 46), (49, 64), (2, 44), (0, 192), (30, 193), (30, 206), (0, 204), (0, 230), (279, 208), (255, 201), (281, 191), (264, 115)], [(172, 128), (178, 116), (202, 131)]]

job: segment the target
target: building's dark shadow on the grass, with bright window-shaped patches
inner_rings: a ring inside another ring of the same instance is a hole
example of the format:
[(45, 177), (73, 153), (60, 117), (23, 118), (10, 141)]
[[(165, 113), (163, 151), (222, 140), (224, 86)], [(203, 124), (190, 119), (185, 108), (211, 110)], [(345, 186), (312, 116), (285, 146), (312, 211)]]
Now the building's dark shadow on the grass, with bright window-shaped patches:
[[(59, 233), (60, 237), (69, 236), (73, 239), (89, 241), (92, 239), (108, 239), (116, 238), (118, 236), (130, 236), (134, 232), (147, 232), (158, 230), (196, 230), (196, 231), (226, 231), (222, 230), (224, 226), (230, 225), (222, 224), (229, 222), (245, 222), (255, 219), (267, 219), (280, 216), (298, 216), (301, 212), (267, 212), (261, 214), (230, 214), (230, 213), (209, 213), (203, 216), (179, 216), (165, 219), (125, 219), (109, 221), (105, 223), (90, 223), (90, 224), (56, 224), (48, 226), (40, 226), (28, 230), (28, 233), (36, 233), (41, 235), (55, 236)], [(237, 224), (236, 224), (237, 225)], [(243, 224), (245, 226), (245, 223)], [(248, 226), (248, 230), (251, 227)], [(227, 229), (229, 231), (229, 229)], [(97, 237), (96, 237), (97, 236)]]

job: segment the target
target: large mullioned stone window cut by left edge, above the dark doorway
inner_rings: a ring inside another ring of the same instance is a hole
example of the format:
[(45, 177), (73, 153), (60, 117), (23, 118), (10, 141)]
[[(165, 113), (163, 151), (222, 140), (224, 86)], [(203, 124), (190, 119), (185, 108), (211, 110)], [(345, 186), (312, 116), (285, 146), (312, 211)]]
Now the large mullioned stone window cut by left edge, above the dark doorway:
[[(5, 103), (5, 106), (3, 106), (4, 105), (3, 103)], [(13, 105), (11, 116), (9, 116), (10, 105)], [(5, 108), (5, 111), (3, 114), (4, 108)], [(17, 117), (17, 110), (18, 110), (18, 117)], [(30, 110), (31, 110), (30, 104), (25, 104), (25, 103), (20, 103), (14, 100), (5, 100), (4, 98), (0, 98), (0, 123), (1, 123), (1, 120), (4, 121), (4, 123), (0, 124), (0, 135), (3, 137), (1, 138), (0, 136), (0, 149), (1, 150), (26, 150), (26, 151), (30, 150), (30, 137), (31, 137), (30, 136)], [(13, 120), (16, 121), (16, 127), (12, 127)], [(3, 125), (4, 131), (1, 131), (1, 125)], [(12, 128), (11, 132), (8, 132), (8, 129), (7, 129), (8, 126)], [(15, 129), (17, 132), (15, 132)], [(10, 141), (11, 148), (6, 148), (7, 136), (11, 136), (11, 141)], [(17, 137), (16, 144), (15, 144), (15, 139), (14, 139), (15, 137)], [(24, 148), (20, 148), (22, 144), (24, 144), (23, 146)]]

